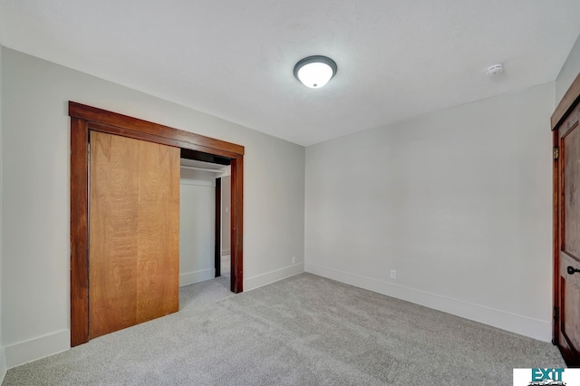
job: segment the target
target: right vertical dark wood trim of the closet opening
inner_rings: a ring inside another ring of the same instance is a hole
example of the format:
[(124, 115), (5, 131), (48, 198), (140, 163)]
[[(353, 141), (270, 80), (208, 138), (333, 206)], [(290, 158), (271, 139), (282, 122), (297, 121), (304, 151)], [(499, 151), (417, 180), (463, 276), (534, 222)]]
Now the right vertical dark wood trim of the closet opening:
[[(244, 291), (244, 157), (238, 156), (231, 163), (231, 288), (234, 293)], [(237, 213), (237, 216), (234, 216)]]

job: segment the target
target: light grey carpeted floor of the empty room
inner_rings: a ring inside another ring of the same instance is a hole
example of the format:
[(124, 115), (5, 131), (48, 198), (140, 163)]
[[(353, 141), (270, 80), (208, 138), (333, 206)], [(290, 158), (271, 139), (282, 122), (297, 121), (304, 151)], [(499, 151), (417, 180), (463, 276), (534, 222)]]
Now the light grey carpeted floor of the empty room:
[(181, 288), (180, 311), (11, 369), (3, 385), (510, 385), (556, 347), (316, 275), (244, 294)]

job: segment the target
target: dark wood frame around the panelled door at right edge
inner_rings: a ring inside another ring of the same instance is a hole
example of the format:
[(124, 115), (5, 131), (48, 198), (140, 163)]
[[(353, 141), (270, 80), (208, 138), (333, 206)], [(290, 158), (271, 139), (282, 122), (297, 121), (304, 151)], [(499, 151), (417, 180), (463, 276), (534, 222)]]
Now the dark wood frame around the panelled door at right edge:
[[(562, 101), (560, 101), (556, 107), (556, 110), (552, 114), (550, 119), (550, 126), (553, 133), (553, 146), (554, 149), (559, 151), (559, 129), (560, 125), (565, 121), (571, 111), (580, 103), (580, 73), (576, 76), (574, 82), (565, 93)], [(553, 227), (554, 227), (554, 251), (553, 251), (553, 261), (554, 261), (554, 272), (553, 272), (553, 306), (554, 314), (552, 320), (552, 343), (559, 344), (560, 336), (560, 320), (559, 320), (559, 310), (560, 310), (560, 249), (561, 249), (561, 233), (560, 229), (560, 213), (559, 207), (561, 205), (562, 198), (558, 194), (560, 191), (560, 159), (561, 157), (554, 157), (553, 166)]]

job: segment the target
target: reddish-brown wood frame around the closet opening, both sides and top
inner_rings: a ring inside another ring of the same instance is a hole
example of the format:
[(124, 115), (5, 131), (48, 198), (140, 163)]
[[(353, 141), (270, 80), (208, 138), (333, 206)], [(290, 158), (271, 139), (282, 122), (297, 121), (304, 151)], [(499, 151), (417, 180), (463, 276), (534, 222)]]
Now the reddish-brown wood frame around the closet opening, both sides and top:
[(89, 342), (89, 132), (195, 150), (231, 163), (231, 291), (243, 291), (244, 147), (69, 101), (71, 117), (71, 346)]

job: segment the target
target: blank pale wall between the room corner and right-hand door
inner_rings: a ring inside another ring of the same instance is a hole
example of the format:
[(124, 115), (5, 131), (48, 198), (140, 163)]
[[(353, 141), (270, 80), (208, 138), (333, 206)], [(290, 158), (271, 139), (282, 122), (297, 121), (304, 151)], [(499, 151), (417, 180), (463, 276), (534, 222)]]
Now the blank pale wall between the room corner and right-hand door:
[(549, 341), (554, 92), (307, 148), (306, 271)]

